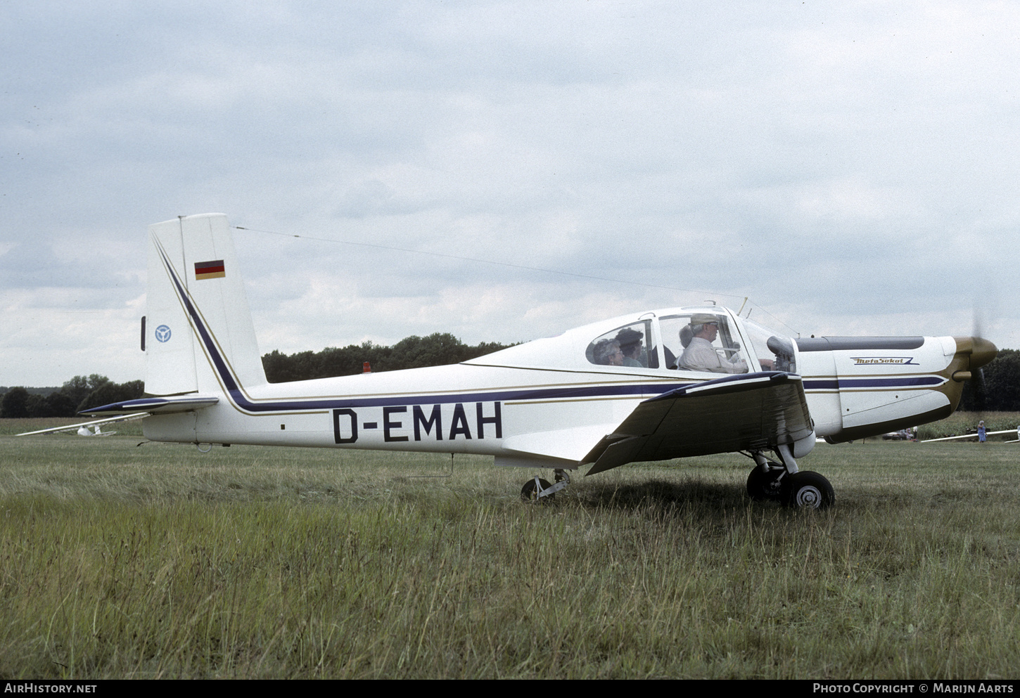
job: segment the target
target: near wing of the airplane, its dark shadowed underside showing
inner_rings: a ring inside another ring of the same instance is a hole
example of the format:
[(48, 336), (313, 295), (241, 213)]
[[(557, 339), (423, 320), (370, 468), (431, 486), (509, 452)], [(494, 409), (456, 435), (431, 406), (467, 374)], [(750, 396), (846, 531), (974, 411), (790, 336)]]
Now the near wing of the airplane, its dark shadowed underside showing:
[(626, 463), (774, 448), (813, 435), (801, 377), (725, 376), (645, 400), (580, 462), (601, 473)]

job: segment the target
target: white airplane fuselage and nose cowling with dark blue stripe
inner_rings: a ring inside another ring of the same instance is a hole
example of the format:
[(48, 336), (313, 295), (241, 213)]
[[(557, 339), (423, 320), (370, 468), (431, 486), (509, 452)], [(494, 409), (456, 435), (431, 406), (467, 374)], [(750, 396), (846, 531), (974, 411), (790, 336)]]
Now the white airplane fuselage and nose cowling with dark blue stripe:
[[(233, 389), (226, 376), (217, 405), (155, 415), (145, 420), (145, 435), (200, 443), (481, 453), (507, 465), (533, 461), (545, 467), (547, 459), (555, 459), (572, 462), (559, 464), (570, 468), (643, 400), (720, 375), (585, 366), (584, 339), (650, 315), (655, 337), (656, 318), (698, 311), (727, 314), (732, 336), (743, 338), (742, 320), (724, 309), (670, 309), (595, 323), (452, 366)], [(941, 419), (959, 400), (962, 383), (953, 380), (958, 343), (952, 337), (811, 338), (795, 344), (818, 436), (849, 440)], [(557, 357), (574, 365), (548, 365)], [(664, 366), (666, 359), (655, 363)]]

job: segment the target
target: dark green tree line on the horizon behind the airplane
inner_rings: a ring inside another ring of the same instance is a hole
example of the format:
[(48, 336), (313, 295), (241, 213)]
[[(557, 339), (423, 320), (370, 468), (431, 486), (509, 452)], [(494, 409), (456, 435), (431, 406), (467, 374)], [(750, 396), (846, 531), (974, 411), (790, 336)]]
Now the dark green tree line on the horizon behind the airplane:
[[(372, 371), (398, 371), (425, 366), (458, 364), (511, 344), (463, 343), (448, 332), (426, 337), (411, 336), (393, 346), (366, 341), (321, 352), (263, 355), (262, 366), (270, 383), (310, 378), (349, 376), (361, 373), (367, 362)], [(960, 410), (968, 412), (1020, 412), (1020, 351), (1001, 350), (983, 369), (983, 382), (968, 381), (964, 386)], [(106, 376), (74, 376), (48, 394), (43, 389), (0, 387), (0, 418), (73, 417), (89, 408), (142, 397), (145, 383), (132, 380), (115, 383)]]

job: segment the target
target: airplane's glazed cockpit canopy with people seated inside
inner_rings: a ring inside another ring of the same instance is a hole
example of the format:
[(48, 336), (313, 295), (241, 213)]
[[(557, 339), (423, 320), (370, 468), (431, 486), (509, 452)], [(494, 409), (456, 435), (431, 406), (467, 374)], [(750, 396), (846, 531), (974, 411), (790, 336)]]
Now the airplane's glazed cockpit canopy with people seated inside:
[[(471, 364), (635, 373), (796, 373), (794, 342), (724, 308), (671, 309), (585, 325)], [(604, 368), (603, 368), (604, 367)]]

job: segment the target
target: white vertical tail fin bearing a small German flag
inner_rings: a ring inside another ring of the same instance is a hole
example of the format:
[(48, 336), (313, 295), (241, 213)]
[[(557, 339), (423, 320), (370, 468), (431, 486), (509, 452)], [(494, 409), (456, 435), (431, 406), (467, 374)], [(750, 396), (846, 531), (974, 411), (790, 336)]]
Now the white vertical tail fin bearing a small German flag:
[(226, 216), (149, 226), (146, 392), (226, 392), (265, 383)]

